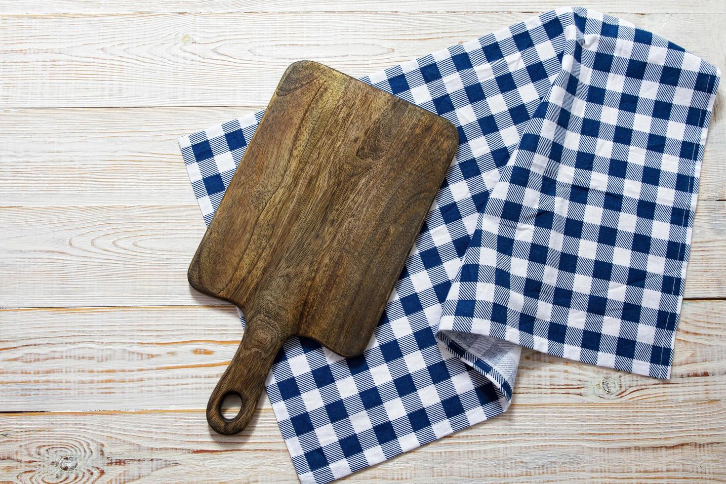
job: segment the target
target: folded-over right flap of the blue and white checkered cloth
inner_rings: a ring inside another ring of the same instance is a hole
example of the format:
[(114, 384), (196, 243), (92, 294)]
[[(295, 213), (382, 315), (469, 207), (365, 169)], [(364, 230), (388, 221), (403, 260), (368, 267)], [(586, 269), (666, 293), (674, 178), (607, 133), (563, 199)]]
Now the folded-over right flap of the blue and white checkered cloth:
[(440, 329), (668, 378), (720, 73), (608, 15), (559, 20), (561, 71), (481, 210)]

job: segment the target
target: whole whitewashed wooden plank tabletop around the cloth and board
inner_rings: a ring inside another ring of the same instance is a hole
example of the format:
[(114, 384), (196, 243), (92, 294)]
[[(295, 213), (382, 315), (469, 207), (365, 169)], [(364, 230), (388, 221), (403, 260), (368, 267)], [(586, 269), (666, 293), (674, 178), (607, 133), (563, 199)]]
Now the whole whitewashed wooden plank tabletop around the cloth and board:
[[(585, 2), (726, 72), (725, 0)], [(194, 292), (176, 136), (260, 109), (299, 59), (363, 75), (563, 0), (0, 4), (0, 481), (296, 482), (268, 401), (204, 408), (240, 340)], [(672, 379), (523, 352), (501, 417), (348, 478), (726, 479), (726, 120), (703, 159)]]

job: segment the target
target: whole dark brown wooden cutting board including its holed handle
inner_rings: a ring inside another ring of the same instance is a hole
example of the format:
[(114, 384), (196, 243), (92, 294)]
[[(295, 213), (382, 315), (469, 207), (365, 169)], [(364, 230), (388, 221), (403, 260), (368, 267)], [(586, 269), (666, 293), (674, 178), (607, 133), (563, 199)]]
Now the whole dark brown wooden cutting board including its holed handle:
[(214, 430), (248, 424), (287, 338), (363, 352), (457, 145), (420, 107), (316, 62), (287, 68), (189, 266), (247, 321), (207, 406)]

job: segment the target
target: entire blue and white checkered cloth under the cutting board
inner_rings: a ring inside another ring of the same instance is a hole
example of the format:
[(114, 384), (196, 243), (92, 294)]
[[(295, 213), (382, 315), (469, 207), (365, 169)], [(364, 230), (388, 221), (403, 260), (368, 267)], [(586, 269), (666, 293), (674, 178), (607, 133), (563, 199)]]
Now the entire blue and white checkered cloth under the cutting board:
[[(266, 382), (303, 483), (501, 414), (520, 346), (669, 376), (718, 70), (582, 8), (362, 78), (460, 147), (368, 349), (288, 341)], [(263, 112), (179, 139), (206, 223)]]

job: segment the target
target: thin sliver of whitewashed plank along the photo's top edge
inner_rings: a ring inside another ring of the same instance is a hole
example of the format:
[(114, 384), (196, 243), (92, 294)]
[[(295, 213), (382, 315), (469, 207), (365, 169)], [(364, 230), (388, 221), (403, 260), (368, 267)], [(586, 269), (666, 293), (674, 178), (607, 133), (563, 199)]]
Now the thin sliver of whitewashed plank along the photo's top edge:
[[(193, 12), (539, 12), (541, 9), (568, 7), (568, 0), (550, 1), (535, 5), (529, 0), (9, 0), (0, 5), (0, 14), (68, 14), (68, 13), (193, 13)], [(599, 0), (581, 1), (578, 5), (599, 12), (673, 12), (673, 13), (724, 13), (721, 1), (662, 0)]]

